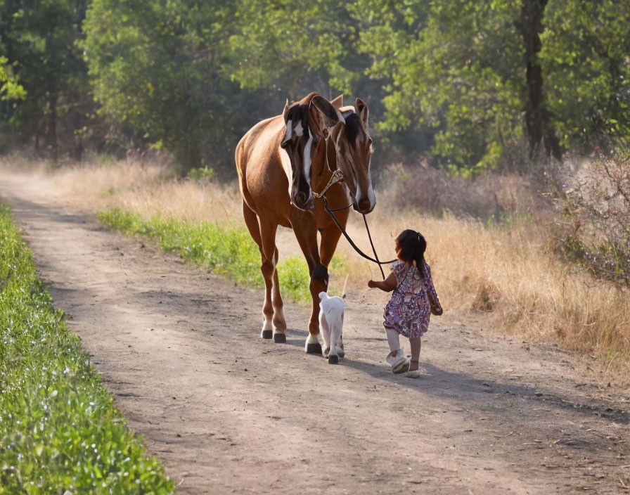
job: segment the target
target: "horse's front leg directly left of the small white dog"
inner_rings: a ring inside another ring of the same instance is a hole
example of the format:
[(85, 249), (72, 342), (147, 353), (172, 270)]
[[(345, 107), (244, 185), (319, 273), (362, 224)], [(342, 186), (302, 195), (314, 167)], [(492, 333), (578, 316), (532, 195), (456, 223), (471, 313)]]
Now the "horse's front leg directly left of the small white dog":
[(310, 212), (292, 208), (289, 220), (293, 227), (295, 238), (297, 238), (297, 243), (300, 244), (302, 253), (307, 259), (311, 276), (309, 289), (311, 290), (313, 307), (311, 319), (309, 320), (309, 337), (307, 338), (305, 350), (309, 354), (321, 354), (321, 344), (317, 338), (319, 335), (319, 293), (326, 292), (328, 289), (328, 269), (321, 264), (319, 259), (317, 227), (313, 215)]

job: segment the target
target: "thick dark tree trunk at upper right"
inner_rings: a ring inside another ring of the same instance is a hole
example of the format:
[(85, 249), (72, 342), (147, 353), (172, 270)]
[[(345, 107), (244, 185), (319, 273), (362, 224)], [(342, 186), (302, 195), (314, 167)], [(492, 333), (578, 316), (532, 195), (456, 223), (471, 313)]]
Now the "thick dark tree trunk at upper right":
[(543, 31), (543, 15), (548, 0), (522, 0), (519, 28), (525, 44), (527, 64), (527, 103), (525, 126), (529, 137), (529, 154), (534, 155), (543, 144), (545, 153), (560, 160), (560, 141), (551, 124), (551, 114), (545, 104), (542, 68), (538, 61), (541, 50), (540, 33)]

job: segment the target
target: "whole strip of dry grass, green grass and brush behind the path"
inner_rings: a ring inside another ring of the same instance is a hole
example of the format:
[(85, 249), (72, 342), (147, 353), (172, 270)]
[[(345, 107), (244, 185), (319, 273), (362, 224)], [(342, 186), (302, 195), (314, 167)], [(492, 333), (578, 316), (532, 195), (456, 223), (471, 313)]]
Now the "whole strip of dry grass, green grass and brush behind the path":
[[(606, 166), (612, 170), (613, 163), (627, 162), (609, 160)], [(489, 331), (557, 343), (584, 355), (600, 371), (627, 372), (627, 236), (613, 228), (616, 224), (608, 230), (587, 228), (598, 217), (592, 208), (587, 217), (584, 205), (576, 206), (577, 189), (571, 181), (579, 181), (582, 191), (586, 184), (601, 188), (603, 163), (576, 161), (566, 167), (566, 191), (555, 192), (551, 183), (520, 175), (482, 174), (470, 180), (430, 169), (388, 167), (381, 171), (378, 203), (368, 215), (375, 247), (380, 259), (390, 259), (397, 234), (418, 229), (428, 238), (428, 258), (447, 317), (474, 315)], [(563, 184), (560, 175), (558, 184)], [(105, 224), (153, 238), (215, 273), (262, 287), (257, 246), (243, 225), (236, 184), (176, 179), (165, 167), (133, 160), (58, 169), (51, 178), (58, 193), (78, 204), (89, 203)], [(418, 189), (420, 181), (425, 186)], [(623, 194), (614, 194), (610, 186), (604, 196), (612, 202), (610, 211), (619, 212), (610, 221), (624, 223), (629, 211), (622, 203), (626, 183), (615, 184)], [(598, 201), (602, 197), (596, 195)], [(350, 215), (348, 231), (370, 252), (359, 215)], [(591, 250), (581, 255), (567, 248), (574, 238), (583, 245), (616, 246), (617, 269), (609, 262), (602, 265), (609, 267), (605, 274), (594, 269)], [(278, 231), (278, 247), (283, 294), (309, 301), (307, 267), (291, 231)], [(380, 271), (343, 238), (331, 268), (333, 293), (349, 274), (348, 297), (378, 297), (366, 289), (366, 281), (379, 278)]]

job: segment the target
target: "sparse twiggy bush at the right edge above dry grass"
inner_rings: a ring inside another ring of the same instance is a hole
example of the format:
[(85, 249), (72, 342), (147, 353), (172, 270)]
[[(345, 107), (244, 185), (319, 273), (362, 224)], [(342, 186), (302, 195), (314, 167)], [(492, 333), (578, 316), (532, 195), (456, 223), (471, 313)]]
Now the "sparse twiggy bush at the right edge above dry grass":
[(630, 153), (600, 157), (567, 185), (564, 252), (598, 277), (630, 287)]

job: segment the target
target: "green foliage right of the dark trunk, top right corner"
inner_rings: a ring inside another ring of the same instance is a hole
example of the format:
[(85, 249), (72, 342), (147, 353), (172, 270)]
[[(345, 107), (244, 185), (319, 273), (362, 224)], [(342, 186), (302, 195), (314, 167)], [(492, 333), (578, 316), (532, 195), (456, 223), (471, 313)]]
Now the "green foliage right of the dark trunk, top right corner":
[(565, 147), (630, 136), (630, 5), (555, 0), (546, 10), (541, 61)]

